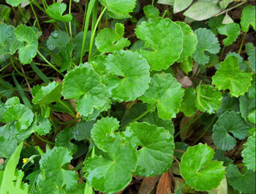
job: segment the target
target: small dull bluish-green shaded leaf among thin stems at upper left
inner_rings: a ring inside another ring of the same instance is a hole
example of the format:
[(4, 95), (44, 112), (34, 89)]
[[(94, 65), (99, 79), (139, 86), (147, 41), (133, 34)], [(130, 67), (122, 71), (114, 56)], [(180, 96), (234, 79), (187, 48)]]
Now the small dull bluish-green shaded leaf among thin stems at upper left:
[(67, 32), (65, 31), (53, 31), (46, 44), (49, 50), (54, 50), (57, 47), (61, 48), (64, 47), (67, 43), (69, 43), (70, 38), (69, 38), (69, 34), (67, 34)]

